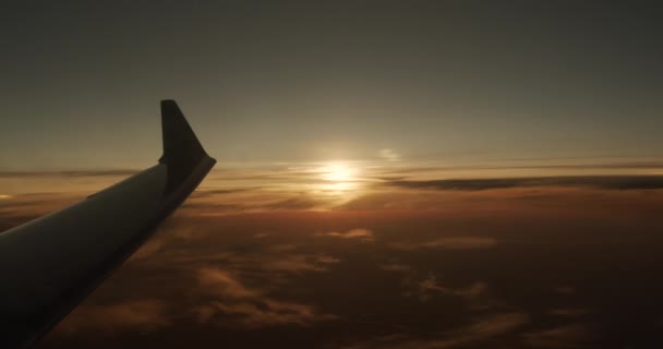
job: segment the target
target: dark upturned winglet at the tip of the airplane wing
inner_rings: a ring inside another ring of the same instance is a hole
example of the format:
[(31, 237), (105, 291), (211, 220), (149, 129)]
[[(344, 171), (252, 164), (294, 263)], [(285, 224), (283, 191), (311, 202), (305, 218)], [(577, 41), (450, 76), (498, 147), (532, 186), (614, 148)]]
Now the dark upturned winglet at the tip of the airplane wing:
[(159, 163), (173, 168), (191, 169), (207, 155), (172, 99), (161, 100), (161, 131), (164, 155)]

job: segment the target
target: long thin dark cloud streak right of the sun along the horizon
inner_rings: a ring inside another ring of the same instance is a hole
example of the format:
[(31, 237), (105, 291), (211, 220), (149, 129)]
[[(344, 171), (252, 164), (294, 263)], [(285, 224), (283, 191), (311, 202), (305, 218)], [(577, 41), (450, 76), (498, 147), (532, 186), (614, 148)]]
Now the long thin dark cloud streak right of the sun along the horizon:
[(663, 189), (663, 176), (586, 176), (586, 177), (532, 177), (491, 179), (393, 180), (389, 186), (405, 189), (436, 189), (479, 191), (490, 189), (530, 186), (586, 186), (608, 190)]

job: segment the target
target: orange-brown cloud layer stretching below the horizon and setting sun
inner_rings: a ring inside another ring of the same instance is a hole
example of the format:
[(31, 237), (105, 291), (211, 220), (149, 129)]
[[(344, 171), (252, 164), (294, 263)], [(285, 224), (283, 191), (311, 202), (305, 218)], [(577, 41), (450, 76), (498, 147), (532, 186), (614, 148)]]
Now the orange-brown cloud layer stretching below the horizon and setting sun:
[[(660, 340), (663, 195), (647, 189), (658, 188), (653, 178), (403, 176), (340, 193), (239, 177), (203, 185), (41, 347), (612, 349)], [(8, 194), (0, 227), (85, 195)]]

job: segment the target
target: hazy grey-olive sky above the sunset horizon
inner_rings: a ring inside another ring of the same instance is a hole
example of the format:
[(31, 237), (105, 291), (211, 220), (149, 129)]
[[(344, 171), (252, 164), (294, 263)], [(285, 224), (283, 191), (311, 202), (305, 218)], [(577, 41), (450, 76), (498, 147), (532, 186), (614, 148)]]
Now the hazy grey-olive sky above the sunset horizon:
[(140, 169), (179, 101), (228, 164), (661, 157), (660, 9), (2, 4), (0, 170)]

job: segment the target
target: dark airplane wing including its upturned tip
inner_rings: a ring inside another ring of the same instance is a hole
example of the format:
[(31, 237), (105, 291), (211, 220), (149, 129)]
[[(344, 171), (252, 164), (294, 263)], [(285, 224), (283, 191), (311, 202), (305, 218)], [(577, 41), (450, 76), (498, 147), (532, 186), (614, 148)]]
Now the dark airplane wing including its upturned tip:
[(98, 287), (205, 178), (209, 157), (161, 101), (159, 163), (0, 234), (0, 348), (32, 346)]

